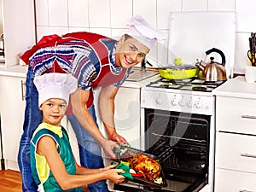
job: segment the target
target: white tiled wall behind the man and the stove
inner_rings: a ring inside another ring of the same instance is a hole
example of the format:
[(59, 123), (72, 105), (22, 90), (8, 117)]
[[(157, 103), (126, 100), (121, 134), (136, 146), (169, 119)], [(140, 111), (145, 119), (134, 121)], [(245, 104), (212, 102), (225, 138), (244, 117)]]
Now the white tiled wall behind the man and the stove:
[[(235, 73), (248, 65), (250, 32), (256, 32), (255, 0), (35, 0), (38, 40), (44, 35), (86, 31), (118, 39), (125, 21), (134, 15), (168, 33), (170, 12), (236, 11)], [(218, 26), (212, 26), (218, 27)], [(219, 29), (220, 31), (223, 29)], [(189, 32), (189, 29), (188, 29)], [(151, 49), (148, 60), (157, 67), (167, 61), (167, 42)]]

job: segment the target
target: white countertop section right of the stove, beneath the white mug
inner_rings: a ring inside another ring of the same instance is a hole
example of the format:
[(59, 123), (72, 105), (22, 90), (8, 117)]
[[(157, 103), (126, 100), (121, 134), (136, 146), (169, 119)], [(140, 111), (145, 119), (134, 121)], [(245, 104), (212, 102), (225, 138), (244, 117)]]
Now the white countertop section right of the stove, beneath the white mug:
[(228, 79), (224, 84), (212, 90), (215, 96), (230, 96), (256, 99), (256, 83), (247, 83), (244, 76)]

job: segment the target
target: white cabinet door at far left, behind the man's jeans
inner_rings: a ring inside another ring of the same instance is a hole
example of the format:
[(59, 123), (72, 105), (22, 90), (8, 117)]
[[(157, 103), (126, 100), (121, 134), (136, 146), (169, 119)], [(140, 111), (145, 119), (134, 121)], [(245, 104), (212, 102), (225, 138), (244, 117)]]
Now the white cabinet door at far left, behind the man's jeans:
[(17, 161), (25, 111), (25, 79), (0, 76), (3, 159)]

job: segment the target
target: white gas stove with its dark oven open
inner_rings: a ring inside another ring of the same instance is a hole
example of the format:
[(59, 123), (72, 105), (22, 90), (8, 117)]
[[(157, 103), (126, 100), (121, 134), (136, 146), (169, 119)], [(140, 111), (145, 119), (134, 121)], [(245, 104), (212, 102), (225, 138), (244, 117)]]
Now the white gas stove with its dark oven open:
[[(167, 186), (148, 189), (121, 183), (121, 191), (213, 191), (214, 110), (212, 90), (222, 82), (148, 79), (141, 90), (141, 145), (154, 154)], [(207, 190), (206, 190), (207, 189)]]

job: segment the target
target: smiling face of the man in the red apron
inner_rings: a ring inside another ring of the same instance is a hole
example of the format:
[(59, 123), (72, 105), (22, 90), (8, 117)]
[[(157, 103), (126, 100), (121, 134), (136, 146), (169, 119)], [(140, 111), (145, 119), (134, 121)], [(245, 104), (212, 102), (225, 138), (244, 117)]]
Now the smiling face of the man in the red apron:
[(117, 44), (116, 66), (124, 68), (135, 66), (143, 61), (148, 52), (148, 47), (141, 44), (136, 38), (125, 38), (123, 35)]

